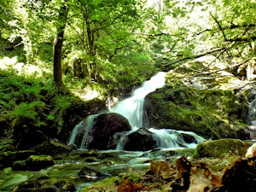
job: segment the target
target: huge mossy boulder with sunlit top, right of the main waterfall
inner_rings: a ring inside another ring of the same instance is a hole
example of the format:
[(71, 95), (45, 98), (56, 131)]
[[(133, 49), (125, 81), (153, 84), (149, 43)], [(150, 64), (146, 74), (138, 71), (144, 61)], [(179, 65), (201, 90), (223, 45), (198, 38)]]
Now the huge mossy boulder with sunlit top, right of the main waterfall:
[(164, 88), (146, 96), (149, 126), (194, 131), (211, 139), (250, 139), (245, 84), (224, 63), (185, 63), (166, 74)]

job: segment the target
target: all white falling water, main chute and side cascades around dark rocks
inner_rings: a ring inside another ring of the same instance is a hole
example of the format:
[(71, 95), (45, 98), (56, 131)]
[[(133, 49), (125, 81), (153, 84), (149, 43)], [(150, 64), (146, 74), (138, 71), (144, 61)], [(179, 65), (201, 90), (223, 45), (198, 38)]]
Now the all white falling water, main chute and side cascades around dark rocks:
[[(147, 125), (147, 113), (143, 109), (144, 97), (148, 93), (154, 90), (164, 87), (166, 84), (166, 73), (160, 72), (154, 75), (151, 79), (144, 82), (142, 87), (134, 90), (131, 97), (119, 102), (116, 106), (109, 109), (110, 113), (119, 113), (129, 120), (132, 130), (128, 133), (124, 133), (119, 139), (116, 149), (122, 150), (125, 144), (125, 136), (131, 134), (133, 131)], [(82, 142), (79, 148), (86, 148), (87, 144), (90, 143), (90, 138), (88, 132), (90, 131), (93, 120), (98, 116), (98, 114), (90, 115), (84, 121), (80, 122), (73, 129), (72, 135), (68, 142), (69, 145), (75, 145), (76, 138), (79, 135), (83, 135)], [(188, 131), (174, 131), (170, 129), (160, 129), (155, 130), (153, 128), (148, 129), (152, 132), (155, 141), (157, 142), (158, 148), (194, 148), (197, 143), (201, 143), (205, 139), (196, 135), (193, 132)], [(184, 136), (193, 137), (192, 143), (187, 143)], [(80, 136), (81, 137), (81, 136)]]

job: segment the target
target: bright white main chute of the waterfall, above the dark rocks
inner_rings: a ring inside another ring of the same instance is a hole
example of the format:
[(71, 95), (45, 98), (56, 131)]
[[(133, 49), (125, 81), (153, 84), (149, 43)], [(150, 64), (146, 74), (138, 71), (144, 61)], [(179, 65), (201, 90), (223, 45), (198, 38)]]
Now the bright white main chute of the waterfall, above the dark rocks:
[(151, 79), (144, 82), (142, 87), (134, 90), (131, 97), (119, 102), (110, 112), (122, 114), (129, 120), (133, 130), (147, 124), (148, 117), (143, 110), (144, 97), (154, 90), (164, 87), (166, 82), (166, 73), (160, 72)]

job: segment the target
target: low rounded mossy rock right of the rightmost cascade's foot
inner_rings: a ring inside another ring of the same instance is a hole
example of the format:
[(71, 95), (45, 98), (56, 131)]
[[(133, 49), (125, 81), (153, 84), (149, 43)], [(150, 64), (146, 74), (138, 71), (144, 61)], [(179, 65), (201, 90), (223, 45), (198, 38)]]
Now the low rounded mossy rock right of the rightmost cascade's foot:
[(224, 154), (244, 156), (251, 145), (252, 143), (232, 138), (207, 141), (197, 145), (196, 155), (198, 157), (220, 157)]

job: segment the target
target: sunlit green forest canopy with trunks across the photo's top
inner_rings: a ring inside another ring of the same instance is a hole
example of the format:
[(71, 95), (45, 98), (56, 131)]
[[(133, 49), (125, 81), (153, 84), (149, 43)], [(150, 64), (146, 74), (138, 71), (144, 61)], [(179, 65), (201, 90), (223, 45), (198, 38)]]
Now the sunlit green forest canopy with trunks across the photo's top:
[(48, 68), (57, 84), (64, 75), (129, 87), (203, 55), (230, 65), (252, 58), (255, 6), (254, 0), (3, 0), (0, 56)]

